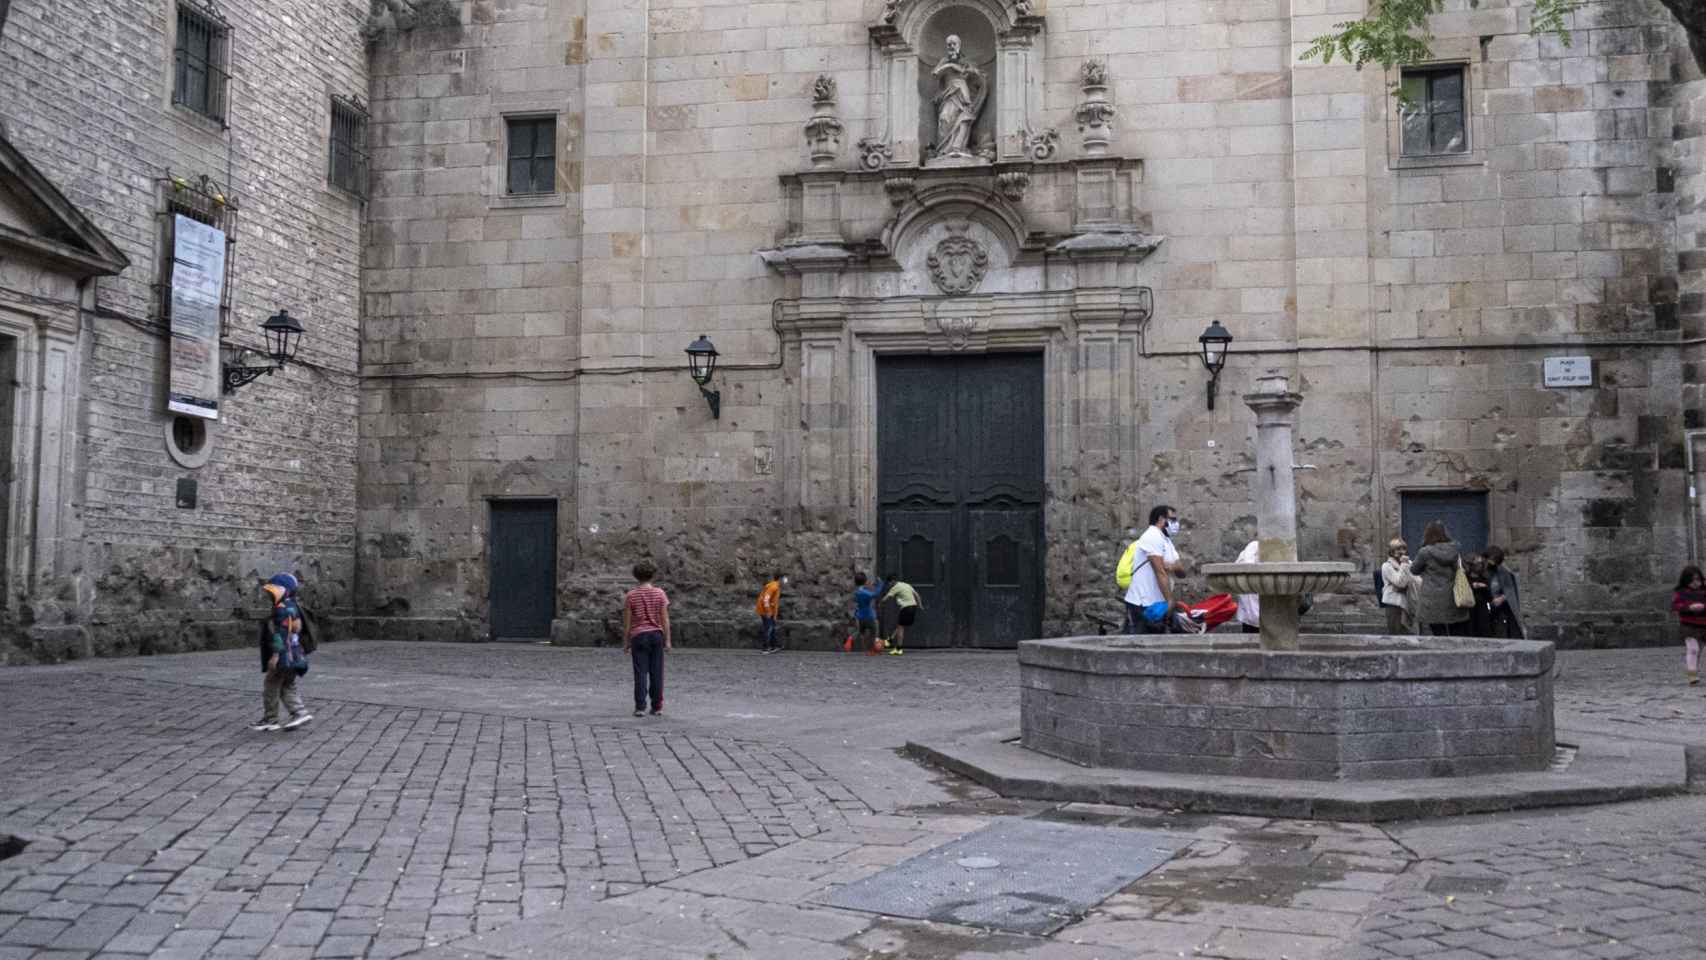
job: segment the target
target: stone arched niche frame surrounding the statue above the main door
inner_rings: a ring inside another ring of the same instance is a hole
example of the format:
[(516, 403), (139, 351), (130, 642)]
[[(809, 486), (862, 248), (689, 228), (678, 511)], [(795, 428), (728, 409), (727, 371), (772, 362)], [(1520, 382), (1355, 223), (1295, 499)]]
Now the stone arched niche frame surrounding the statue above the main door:
[(931, 68), (942, 60), (949, 34), (960, 36), (967, 60), (988, 78), (988, 97), (972, 124), (972, 153), (979, 142), (993, 147), (988, 160), (1024, 160), (1027, 138), (1042, 130), (1042, 17), (1024, 0), (897, 0), (884, 7), (872, 27), (882, 60), (872, 89), (884, 92), (884, 165), (931, 164), (940, 84)]

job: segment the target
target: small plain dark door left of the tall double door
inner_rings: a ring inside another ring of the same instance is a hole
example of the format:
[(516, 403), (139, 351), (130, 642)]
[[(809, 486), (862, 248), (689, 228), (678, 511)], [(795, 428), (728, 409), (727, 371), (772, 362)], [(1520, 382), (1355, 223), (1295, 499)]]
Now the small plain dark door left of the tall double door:
[(541, 639), (556, 617), (556, 501), (491, 501), (491, 636)]

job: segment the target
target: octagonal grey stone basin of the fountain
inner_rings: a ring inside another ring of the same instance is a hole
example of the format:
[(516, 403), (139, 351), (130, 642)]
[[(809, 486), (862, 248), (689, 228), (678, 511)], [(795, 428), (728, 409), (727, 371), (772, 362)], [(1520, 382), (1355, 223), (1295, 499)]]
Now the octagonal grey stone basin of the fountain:
[(1281, 779), (1542, 771), (1552, 645), (1254, 636), (1032, 639), (1022, 743), (1087, 766)]

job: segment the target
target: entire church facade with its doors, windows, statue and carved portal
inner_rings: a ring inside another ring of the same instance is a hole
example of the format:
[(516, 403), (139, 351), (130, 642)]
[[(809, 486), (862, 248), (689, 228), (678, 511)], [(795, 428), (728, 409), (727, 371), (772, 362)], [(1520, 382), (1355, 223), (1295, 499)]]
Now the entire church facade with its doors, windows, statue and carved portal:
[[(756, 636), (786, 573), (810, 646), (844, 633), (856, 570), (894, 571), (926, 645), (1094, 633), (1152, 505), (1192, 561), (1254, 535), (1239, 397), (1280, 368), (1305, 397), (1302, 556), (1372, 571), (1438, 518), (1505, 547), (1532, 636), (1668, 639), (1699, 551), (1706, 82), (1657, 5), (1592, 5), (1570, 44), (1520, 3), (1452, 7), (1402, 72), (1298, 60), (1360, 5), (425, 7), (333, 24), (367, 90), (363, 196), (302, 234), (358, 264), (316, 276), (324, 375), (246, 389), (316, 408), (290, 443), (331, 460), (288, 489), (346, 506), (256, 513), (271, 547), (232, 552), (232, 583), (319, 558), (305, 580), (357, 636), (606, 643), (652, 558), (682, 643)], [(96, 307), (131, 273), (90, 281)], [(135, 389), (171, 421), (164, 380)], [(191, 539), (171, 549), (212, 549)], [(97, 541), (92, 610), (128, 583)], [(1368, 587), (1310, 619), (1377, 624)], [(157, 622), (203, 600), (159, 588)]]

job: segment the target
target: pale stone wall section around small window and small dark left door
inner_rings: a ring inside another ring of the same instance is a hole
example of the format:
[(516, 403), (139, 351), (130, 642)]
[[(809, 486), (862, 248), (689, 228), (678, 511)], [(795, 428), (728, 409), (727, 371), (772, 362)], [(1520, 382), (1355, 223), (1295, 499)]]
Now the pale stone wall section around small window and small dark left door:
[[(573, 542), (582, 206), (612, 203), (583, 200), (585, 39), (583, 3), (549, 0), (375, 46), (357, 597), (375, 636), (486, 636), (488, 500), (560, 500)], [(549, 194), (505, 191), (512, 114), (556, 118)]]

